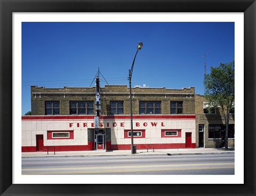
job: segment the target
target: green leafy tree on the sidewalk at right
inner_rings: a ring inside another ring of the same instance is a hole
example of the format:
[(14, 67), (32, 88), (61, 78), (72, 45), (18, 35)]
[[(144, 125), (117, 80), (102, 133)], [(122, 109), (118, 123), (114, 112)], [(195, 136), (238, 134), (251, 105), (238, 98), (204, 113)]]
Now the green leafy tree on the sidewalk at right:
[(228, 125), (230, 110), (235, 107), (235, 61), (220, 63), (205, 74), (205, 98), (212, 107), (220, 107), (225, 118), (225, 149), (228, 149)]

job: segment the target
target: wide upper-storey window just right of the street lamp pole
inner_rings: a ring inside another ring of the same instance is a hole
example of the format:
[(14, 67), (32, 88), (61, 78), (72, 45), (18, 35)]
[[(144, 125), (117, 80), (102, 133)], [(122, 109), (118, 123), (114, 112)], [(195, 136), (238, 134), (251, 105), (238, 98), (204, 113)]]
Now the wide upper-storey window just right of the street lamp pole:
[(161, 114), (161, 101), (140, 101), (140, 114)]

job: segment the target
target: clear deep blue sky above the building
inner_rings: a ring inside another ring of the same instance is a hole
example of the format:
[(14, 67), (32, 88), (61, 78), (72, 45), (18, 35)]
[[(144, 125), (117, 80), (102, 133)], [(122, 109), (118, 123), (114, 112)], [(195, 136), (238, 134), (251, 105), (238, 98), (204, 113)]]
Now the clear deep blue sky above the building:
[[(31, 110), (30, 86), (89, 87), (100, 68), (109, 84), (204, 93), (207, 73), (235, 59), (234, 22), (23, 22), (22, 115)], [(92, 86), (94, 86), (93, 82)], [(101, 77), (101, 87), (107, 83)]]

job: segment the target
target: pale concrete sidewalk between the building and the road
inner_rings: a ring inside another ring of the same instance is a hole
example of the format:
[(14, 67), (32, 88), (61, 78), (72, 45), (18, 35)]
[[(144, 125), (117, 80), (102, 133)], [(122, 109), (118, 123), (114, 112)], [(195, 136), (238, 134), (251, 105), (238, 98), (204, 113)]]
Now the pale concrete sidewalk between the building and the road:
[(235, 153), (234, 149), (223, 150), (217, 148), (186, 148), (186, 149), (153, 149), (137, 150), (136, 154), (131, 154), (131, 150), (92, 150), (92, 151), (57, 151), (49, 152), (22, 152), (22, 157), (70, 157), (70, 156), (113, 156), (113, 155), (127, 155), (127, 156), (140, 156), (140, 155), (199, 155), (199, 154), (227, 154)]

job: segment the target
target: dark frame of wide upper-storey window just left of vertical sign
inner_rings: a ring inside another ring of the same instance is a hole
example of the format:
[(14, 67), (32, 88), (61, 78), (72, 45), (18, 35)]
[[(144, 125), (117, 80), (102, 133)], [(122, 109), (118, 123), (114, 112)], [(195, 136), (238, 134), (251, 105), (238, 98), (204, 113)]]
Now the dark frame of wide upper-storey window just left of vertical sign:
[[(71, 107), (72, 103), (76, 104), (75, 107)], [(89, 107), (90, 105), (92, 107)], [(84, 104), (84, 107), (79, 106), (80, 104)], [(79, 112), (79, 110), (84, 109), (84, 113)], [(91, 110), (92, 109), (92, 110)], [(76, 110), (76, 113), (74, 113), (72, 110)], [(89, 113), (89, 110), (92, 111)], [(93, 115), (94, 114), (94, 101), (69, 101), (69, 114), (70, 115)]]

